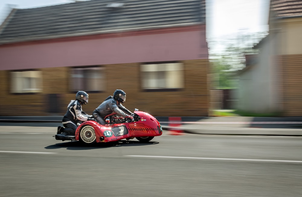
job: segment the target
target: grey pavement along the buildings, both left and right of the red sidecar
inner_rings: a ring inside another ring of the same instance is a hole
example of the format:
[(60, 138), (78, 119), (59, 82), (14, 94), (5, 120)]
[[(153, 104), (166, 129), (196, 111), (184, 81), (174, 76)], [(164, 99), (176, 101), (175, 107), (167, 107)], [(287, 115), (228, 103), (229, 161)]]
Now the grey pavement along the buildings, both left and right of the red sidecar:
[[(181, 122), (156, 118), (165, 131), (176, 130), (179, 134), (302, 136), (302, 117), (182, 117)], [(61, 120), (62, 116), (0, 116), (0, 126), (2, 132), (9, 132), (12, 126), (32, 126), (33, 132), (50, 132), (53, 128), (45, 127), (59, 126)]]

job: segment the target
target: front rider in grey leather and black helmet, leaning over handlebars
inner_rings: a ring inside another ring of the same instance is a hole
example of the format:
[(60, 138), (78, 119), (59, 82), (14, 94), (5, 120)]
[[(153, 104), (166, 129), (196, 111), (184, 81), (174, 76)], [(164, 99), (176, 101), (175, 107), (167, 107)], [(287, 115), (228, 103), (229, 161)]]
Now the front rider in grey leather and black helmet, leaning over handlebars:
[(108, 96), (93, 112), (92, 117), (104, 125), (106, 124), (104, 118), (112, 113), (117, 113), (125, 118), (130, 118), (134, 121), (133, 113), (126, 109), (122, 103), (126, 101), (126, 93), (123, 90), (117, 89), (114, 91), (113, 96)]

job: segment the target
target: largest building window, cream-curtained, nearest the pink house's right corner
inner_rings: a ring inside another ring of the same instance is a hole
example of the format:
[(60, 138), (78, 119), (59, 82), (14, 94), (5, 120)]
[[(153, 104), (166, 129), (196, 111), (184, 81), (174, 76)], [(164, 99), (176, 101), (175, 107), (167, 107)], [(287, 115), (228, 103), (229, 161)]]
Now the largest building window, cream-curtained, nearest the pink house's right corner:
[(176, 90), (184, 87), (183, 63), (141, 65), (145, 90)]

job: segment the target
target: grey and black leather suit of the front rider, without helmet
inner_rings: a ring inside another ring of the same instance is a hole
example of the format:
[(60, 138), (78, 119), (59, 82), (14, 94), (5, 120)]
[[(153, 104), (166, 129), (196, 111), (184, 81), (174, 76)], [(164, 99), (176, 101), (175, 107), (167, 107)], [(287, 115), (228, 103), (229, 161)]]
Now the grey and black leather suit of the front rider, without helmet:
[(108, 96), (104, 102), (102, 102), (101, 105), (92, 112), (92, 116), (98, 123), (104, 125), (106, 124), (104, 118), (114, 112), (123, 117), (132, 114), (131, 111), (126, 109), (120, 102), (117, 104), (117, 101), (113, 96)]

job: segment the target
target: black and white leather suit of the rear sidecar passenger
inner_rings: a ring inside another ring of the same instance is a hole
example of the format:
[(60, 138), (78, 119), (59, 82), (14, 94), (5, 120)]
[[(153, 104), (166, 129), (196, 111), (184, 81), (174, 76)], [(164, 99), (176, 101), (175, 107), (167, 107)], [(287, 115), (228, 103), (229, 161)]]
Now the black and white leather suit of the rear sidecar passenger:
[(87, 121), (87, 115), (82, 111), (82, 105), (77, 100), (71, 100), (67, 106), (67, 112), (62, 119), (62, 124), (65, 127), (63, 129), (64, 133), (69, 135), (75, 135), (76, 129), (78, 128), (79, 121)]

